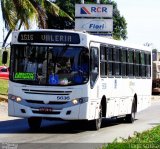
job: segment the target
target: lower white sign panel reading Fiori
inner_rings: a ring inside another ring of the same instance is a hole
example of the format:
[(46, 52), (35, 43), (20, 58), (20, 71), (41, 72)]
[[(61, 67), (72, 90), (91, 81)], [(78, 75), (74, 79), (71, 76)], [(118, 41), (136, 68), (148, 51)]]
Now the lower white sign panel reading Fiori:
[(86, 30), (91, 32), (112, 32), (112, 19), (76, 19), (75, 29)]

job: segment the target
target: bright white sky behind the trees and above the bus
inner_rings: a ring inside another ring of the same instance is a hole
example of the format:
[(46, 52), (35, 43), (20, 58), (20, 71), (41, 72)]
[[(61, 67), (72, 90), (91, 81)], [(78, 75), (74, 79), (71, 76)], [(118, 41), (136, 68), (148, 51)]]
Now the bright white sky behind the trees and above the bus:
[[(140, 45), (146, 42), (152, 43), (154, 48), (160, 50), (160, 0), (115, 1), (120, 14), (127, 22), (127, 41)], [(3, 41), (3, 27), (0, 10), (0, 42)]]

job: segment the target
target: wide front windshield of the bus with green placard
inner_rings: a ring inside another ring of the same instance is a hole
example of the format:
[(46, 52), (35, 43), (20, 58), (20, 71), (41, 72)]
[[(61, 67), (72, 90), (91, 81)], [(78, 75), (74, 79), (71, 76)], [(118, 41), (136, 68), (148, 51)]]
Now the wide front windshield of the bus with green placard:
[(11, 47), (10, 79), (32, 85), (80, 85), (89, 80), (89, 53), (84, 47)]

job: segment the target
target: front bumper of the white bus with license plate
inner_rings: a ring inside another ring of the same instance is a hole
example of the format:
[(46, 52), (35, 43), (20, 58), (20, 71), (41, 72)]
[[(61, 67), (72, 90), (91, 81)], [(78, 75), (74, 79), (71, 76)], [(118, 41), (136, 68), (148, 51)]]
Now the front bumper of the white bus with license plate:
[(26, 106), (8, 99), (8, 115), (14, 117), (42, 117), (63, 120), (85, 120), (87, 118), (87, 103), (54, 109), (41, 106), (39, 108)]

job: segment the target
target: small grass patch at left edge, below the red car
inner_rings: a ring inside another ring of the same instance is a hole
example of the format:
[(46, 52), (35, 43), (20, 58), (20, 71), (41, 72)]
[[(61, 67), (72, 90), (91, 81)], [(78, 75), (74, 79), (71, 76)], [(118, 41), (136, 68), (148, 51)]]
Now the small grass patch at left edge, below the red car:
[(8, 80), (0, 79), (0, 94), (1, 95), (8, 94)]

